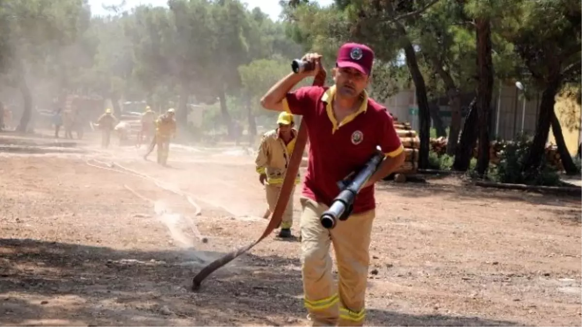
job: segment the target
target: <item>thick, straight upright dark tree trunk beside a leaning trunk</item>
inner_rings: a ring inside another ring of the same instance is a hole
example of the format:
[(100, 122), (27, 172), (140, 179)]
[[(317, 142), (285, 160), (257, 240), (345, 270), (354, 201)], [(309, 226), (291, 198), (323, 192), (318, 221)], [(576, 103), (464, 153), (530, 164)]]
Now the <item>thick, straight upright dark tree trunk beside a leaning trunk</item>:
[(489, 120), (491, 119), (491, 97), (493, 93), (493, 61), (491, 58), (491, 22), (489, 19), (475, 20), (477, 30), (477, 113), (479, 122), (479, 149), (477, 173), (484, 176), (489, 167)]

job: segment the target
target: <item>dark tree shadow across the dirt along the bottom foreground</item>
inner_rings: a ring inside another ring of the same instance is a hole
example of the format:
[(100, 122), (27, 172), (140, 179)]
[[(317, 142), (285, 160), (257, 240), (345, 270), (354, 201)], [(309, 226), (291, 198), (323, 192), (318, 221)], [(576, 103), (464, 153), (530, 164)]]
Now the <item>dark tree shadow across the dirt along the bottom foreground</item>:
[[(120, 251), (0, 239), (0, 325), (303, 325), (299, 262), (246, 255), (190, 292), (193, 251)], [(370, 326), (523, 326), (512, 322), (368, 310)], [(60, 319), (60, 320), (59, 320)], [(36, 323), (35, 323), (36, 322)]]

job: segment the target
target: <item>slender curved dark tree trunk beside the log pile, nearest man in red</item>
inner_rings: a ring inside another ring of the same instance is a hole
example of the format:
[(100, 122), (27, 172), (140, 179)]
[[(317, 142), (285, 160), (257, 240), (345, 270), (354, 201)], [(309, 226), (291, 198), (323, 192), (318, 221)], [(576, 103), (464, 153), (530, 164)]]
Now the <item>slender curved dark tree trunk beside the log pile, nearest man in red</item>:
[[(402, 33), (402, 32), (401, 32)], [(402, 35), (406, 35), (406, 31)], [(406, 38), (404, 44), (404, 53), (406, 54), (406, 65), (414, 81), (416, 89), (416, 99), (418, 102), (418, 122), (420, 123), (420, 151), (418, 152), (418, 168), (428, 168), (428, 151), (430, 151), (430, 132), (431, 132), (431, 113), (428, 108), (427, 86), (424, 83), (423, 74), (418, 68), (416, 52), (412, 43)]]

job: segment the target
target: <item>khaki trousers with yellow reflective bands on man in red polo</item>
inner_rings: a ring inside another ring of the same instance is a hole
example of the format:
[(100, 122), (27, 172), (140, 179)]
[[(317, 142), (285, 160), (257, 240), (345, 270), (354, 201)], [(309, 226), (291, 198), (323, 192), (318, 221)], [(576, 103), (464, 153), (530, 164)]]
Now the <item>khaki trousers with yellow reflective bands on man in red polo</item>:
[[(335, 228), (321, 226), (324, 204), (301, 198), (301, 271), (304, 304), (314, 327), (363, 326), (364, 298), (370, 264), (370, 234), (375, 210), (351, 215)], [(338, 262), (336, 292), (329, 246)]]

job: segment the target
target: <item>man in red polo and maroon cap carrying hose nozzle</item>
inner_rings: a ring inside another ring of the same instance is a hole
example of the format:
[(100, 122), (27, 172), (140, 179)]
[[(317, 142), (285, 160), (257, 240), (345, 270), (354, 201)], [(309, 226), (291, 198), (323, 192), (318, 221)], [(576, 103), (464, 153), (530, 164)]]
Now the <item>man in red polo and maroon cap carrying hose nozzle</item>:
[[(347, 43), (338, 51), (332, 87), (301, 87), (299, 81), (315, 76), (321, 56), (304, 61), (316, 69), (290, 73), (261, 99), (266, 109), (303, 116), (310, 142), (309, 163), (301, 205), (301, 262), (304, 303), (313, 326), (363, 326), (364, 297), (370, 261), (369, 247), (375, 217), (374, 183), (398, 169), (404, 152), (386, 109), (368, 97), (374, 52), (362, 44)], [(320, 215), (339, 194), (337, 182), (361, 168), (377, 151), (386, 154), (378, 172), (363, 187), (352, 215), (334, 229), (321, 226)], [(338, 262), (339, 294), (333, 285), (329, 246)]]

